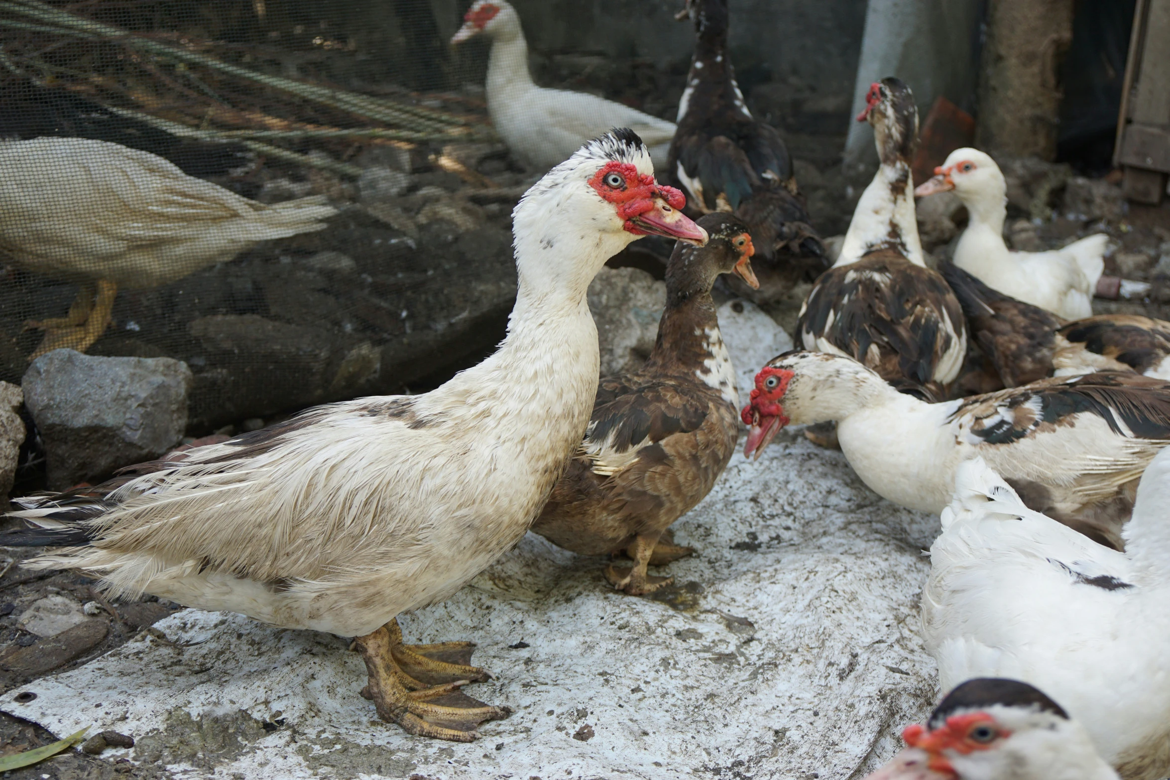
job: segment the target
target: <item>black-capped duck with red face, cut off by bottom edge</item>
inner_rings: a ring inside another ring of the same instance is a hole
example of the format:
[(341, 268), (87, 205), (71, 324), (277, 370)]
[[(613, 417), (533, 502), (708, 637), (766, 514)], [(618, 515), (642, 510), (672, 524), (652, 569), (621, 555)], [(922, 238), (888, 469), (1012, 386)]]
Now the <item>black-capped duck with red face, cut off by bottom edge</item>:
[(959, 683), (902, 741), (906, 750), (866, 780), (1119, 780), (1081, 723), (1006, 677)]

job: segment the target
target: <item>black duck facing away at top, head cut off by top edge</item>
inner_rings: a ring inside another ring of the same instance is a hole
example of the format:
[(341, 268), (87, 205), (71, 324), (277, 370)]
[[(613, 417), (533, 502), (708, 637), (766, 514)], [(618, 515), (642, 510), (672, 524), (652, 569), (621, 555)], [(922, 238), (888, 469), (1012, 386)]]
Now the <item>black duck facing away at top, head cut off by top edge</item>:
[(688, 18), (695, 51), (666, 174), (687, 195), (688, 214), (731, 212), (748, 223), (760, 287), (753, 292), (738, 281), (735, 291), (757, 303), (777, 299), (803, 277), (812, 281), (826, 270), (825, 247), (811, 226), (784, 139), (751, 115), (736, 84), (727, 0), (687, 0), (679, 19)]

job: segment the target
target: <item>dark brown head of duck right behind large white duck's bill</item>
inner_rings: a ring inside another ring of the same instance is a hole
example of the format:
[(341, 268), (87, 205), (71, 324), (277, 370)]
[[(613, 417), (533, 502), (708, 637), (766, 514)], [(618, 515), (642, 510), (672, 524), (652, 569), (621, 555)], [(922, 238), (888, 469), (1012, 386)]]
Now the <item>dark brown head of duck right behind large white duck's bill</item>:
[(686, 298), (710, 292), (721, 274), (735, 274), (751, 289), (759, 282), (751, 269), (756, 248), (748, 226), (728, 212), (713, 212), (698, 218), (698, 227), (707, 230), (707, 244), (695, 247), (680, 241), (666, 267), (667, 296)]

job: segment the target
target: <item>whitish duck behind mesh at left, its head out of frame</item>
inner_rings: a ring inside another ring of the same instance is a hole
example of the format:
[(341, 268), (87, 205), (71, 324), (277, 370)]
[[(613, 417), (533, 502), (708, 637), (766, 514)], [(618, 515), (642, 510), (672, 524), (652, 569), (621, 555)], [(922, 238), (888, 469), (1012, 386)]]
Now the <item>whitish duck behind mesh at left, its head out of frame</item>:
[(110, 324), (119, 288), (170, 284), (261, 241), (326, 227), (322, 196), (260, 203), (187, 175), (150, 152), (90, 138), (0, 141), (0, 253), (81, 285), (29, 360), (84, 352)]

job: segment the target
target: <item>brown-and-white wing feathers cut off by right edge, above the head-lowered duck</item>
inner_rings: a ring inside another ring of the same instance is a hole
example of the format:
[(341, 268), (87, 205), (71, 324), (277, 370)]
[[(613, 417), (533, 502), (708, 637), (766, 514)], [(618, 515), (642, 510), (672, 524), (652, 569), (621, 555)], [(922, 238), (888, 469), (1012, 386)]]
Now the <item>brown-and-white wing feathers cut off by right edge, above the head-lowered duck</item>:
[(1099, 315), (1055, 331), (1053, 365), (1061, 373), (1136, 371), (1170, 379), (1170, 323), (1137, 315)]

